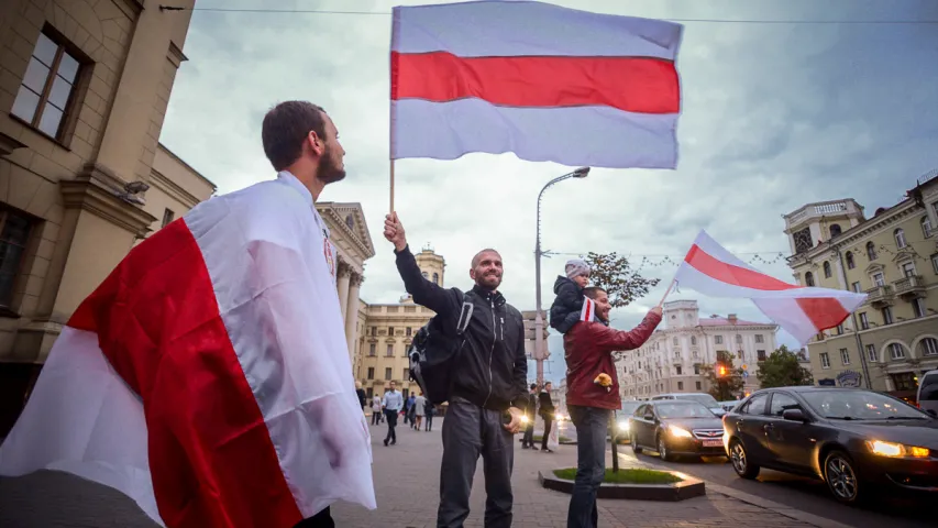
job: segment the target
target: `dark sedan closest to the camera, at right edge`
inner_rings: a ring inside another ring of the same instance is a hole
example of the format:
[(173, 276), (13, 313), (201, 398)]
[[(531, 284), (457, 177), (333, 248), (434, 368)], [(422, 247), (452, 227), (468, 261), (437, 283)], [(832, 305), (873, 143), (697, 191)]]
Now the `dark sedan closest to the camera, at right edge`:
[(938, 494), (938, 420), (885, 394), (762, 389), (724, 417), (724, 430), (743, 479), (760, 468), (819, 477), (847, 504), (879, 485)]

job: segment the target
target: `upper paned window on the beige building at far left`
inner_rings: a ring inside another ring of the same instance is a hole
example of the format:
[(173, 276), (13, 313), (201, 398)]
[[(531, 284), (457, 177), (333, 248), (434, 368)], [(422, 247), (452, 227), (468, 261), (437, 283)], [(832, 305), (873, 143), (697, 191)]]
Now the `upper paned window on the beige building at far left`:
[(45, 32), (40, 33), (10, 113), (60, 141), (66, 114), (74, 105), (80, 67), (79, 61), (65, 46)]

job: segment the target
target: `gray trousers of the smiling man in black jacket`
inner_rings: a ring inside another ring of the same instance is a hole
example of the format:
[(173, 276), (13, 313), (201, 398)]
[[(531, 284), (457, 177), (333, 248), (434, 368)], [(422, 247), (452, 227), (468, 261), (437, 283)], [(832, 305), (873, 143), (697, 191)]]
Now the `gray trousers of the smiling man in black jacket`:
[(512, 435), (501, 425), (501, 413), (450, 399), (443, 420), (443, 461), (440, 466), (440, 509), (437, 528), (462, 528), (468, 517), (472, 479), (482, 454), (485, 474), (485, 528), (511, 526)]

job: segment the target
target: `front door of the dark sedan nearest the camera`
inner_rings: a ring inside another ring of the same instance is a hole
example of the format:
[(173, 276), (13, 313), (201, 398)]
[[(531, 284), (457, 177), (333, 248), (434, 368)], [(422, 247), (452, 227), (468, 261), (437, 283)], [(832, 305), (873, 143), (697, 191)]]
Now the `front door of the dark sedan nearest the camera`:
[(773, 392), (769, 402), (769, 417), (762, 426), (770, 457), (766, 465), (809, 471), (817, 443), (812, 435), (814, 426), (810, 422), (782, 418), (782, 414), (787, 409), (798, 409), (808, 416), (794, 395), (784, 391)]

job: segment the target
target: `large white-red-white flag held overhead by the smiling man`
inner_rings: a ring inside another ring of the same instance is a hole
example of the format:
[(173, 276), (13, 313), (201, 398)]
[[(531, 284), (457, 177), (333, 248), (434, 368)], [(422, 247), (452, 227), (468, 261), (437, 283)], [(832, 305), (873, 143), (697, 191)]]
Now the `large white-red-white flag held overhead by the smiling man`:
[(397, 7), (391, 160), (674, 168), (683, 26), (532, 1)]

